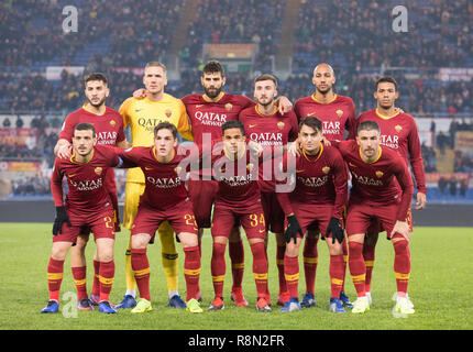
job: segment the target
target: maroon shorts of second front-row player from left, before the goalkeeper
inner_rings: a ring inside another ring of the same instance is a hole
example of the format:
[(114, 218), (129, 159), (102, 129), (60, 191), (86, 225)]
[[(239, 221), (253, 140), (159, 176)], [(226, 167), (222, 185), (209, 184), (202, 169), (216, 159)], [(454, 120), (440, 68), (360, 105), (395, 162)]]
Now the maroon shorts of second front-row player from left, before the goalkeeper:
[(196, 218), (194, 217), (193, 206), (188, 199), (165, 210), (158, 210), (140, 204), (131, 228), (131, 235), (147, 233), (151, 235), (150, 243), (154, 243), (157, 228), (166, 220), (177, 234), (188, 232), (197, 235), (198, 229)]

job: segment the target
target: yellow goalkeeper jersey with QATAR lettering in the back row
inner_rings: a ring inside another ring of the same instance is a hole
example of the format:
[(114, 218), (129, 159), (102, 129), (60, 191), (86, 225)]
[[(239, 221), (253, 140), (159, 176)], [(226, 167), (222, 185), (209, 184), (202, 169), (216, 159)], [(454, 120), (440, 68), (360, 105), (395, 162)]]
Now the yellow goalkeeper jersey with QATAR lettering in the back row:
[[(184, 139), (194, 141), (186, 107), (180, 99), (168, 94), (164, 94), (160, 101), (128, 98), (119, 112), (123, 118), (123, 129), (130, 127), (133, 146), (153, 145), (154, 128), (163, 121), (173, 123)], [(127, 182), (144, 184), (141, 168), (130, 168)]]

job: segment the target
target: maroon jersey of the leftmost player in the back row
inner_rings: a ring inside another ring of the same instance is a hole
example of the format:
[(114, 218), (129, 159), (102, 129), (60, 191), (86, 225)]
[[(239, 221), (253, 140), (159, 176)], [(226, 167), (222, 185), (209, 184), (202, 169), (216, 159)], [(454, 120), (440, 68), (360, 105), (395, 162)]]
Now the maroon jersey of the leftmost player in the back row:
[(94, 124), (97, 133), (97, 144), (116, 145), (125, 139), (123, 131), (123, 119), (117, 110), (106, 107), (102, 116), (95, 114), (80, 108), (69, 113), (64, 120), (59, 139), (73, 140), (74, 129), (78, 123), (88, 122)]

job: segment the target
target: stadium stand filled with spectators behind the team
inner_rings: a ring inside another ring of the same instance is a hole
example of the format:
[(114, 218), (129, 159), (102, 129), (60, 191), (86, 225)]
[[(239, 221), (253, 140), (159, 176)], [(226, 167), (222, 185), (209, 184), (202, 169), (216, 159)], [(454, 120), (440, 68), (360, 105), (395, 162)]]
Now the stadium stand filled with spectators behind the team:
[[(288, 3), (198, 1), (197, 10), (187, 13), (180, 77), (169, 81), (166, 90), (177, 97), (201, 91), (204, 43), (253, 43), (258, 51), (250, 75), (228, 73), (227, 84), (228, 91), (251, 97), (251, 74), (274, 68)], [(68, 4), (78, 9), (77, 33), (61, 29), (62, 9)], [(84, 73), (107, 74), (111, 87), (107, 103), (118, 109), (142, 87), (140, 68), (146, 62), (166, 63), (184, 6), (184, 0), (2, 1), (0, 172), (23, 175), (22, 182), (9, 186), (8, 197), (47, 194), (28, 184), (47, 178), (62, 122), (84, 101)], [(292, 74), (280, 81), (279, 91), (293, 101), (310, 95), (311, 70), (327, 62), (336, 70), (336, 91), (352, 97), (360, 113), (374, 108), (376, 77), (393, 75), (400, 87), (398, 106), (416, 117), (422, 134), (426, 172), (437, 175), (429, 182), (429, 199), (473, 201), (469, 187), (473, 148), (468, 146), (473, 133), (473, 74), (454, 72), (473, 67), (473, 4), (468, 0), (409, 2), (407, 33), (392, 30), (395, 6), (393, 0), (300, 1)], [(58, 72), (52, 73), (55, 67)], [(442, 76), (449, 68), (457, 77)]]

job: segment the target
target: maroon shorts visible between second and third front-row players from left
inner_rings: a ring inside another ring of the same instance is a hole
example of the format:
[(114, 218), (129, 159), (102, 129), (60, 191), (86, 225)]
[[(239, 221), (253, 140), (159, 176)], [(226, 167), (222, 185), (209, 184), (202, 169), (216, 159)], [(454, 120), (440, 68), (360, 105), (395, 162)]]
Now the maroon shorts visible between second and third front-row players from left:
[(187, 187), (197, 226), (199, 228), (210, 228), (212, 206), (219, 190), (219, 184), (210, 179), (189, 179)]

